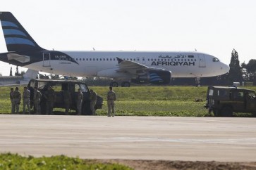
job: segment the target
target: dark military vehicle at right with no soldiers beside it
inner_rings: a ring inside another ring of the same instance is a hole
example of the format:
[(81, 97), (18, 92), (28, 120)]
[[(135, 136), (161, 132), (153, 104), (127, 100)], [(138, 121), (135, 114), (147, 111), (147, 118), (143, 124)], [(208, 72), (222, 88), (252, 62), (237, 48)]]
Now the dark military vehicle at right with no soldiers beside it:
[(233, 112), (249, 112), (256, 116), (255, 91), (236, 87), (209, 86), (205, 107), (217, 117), (232, 117)]

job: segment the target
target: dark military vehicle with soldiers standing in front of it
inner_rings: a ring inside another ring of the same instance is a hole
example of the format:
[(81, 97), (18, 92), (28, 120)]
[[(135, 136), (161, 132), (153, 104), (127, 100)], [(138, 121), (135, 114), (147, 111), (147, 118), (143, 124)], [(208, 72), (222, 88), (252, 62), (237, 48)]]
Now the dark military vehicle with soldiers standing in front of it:
[[(47, 91), (47, 87), (51, 86), (55, 91), (55, 102), (54, 108), (65, 108), (66, 105), (63, 101), (63, 91), (69, 91), (71, 94), (71, 105), (70, 110), (76, 110), (76, 98), (78, 96), (78, 89), (81, 89), (83, 93), (83, 105), (82, 105), (82, 115), (92, 115), (90, 110), (90, 91), (87, 85), (82, 81), (71, 81), (71, 80), (51, 80), (51, 79), (31, 79), (28, 83), (28, 89), (30, 89), (30, 105), (33, 106), (33, 88), (37, 86), (37, 89), (42, 93), (41, 97), (41, 114), (46, 113), (46, 98), (44, 98), (44, 93)], [(97, 96), (97, 103), (95, 105), (95, 110), (101, 109), (103, 105), (103, 98)]]

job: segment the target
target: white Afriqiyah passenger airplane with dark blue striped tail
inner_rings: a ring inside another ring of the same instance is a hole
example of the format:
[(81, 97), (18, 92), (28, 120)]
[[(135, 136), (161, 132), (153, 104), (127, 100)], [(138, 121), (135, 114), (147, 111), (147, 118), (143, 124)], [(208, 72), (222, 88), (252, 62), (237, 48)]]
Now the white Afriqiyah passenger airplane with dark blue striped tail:
[(10, 12), (0, 12), (8, 52), (0, 60), (39, 72), (72, 77), (109, 77), (110, 86), (170, 84), (171, 77), (214, 77), (228, 65), (197, 51), (50, 51), (40, 47)]

